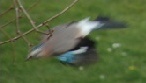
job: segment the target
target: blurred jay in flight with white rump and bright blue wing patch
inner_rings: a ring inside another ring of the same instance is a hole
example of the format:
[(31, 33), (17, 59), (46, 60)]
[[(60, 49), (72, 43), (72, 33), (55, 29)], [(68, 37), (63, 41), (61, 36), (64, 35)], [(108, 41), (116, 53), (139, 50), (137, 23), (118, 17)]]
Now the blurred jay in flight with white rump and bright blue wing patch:
[[(51, 36), (44, 35), (32, 48), (27, 60), (56, 55), (62, 63), (83, 65), (97, 62), (96, 42), (90, 39), (92, 31), (108, 28), (125, 28), (126, 24), (108, 17), (89, 18), (58, 25), (51, 29)], [(50, 32), (48, 30), (47, 32)]]

